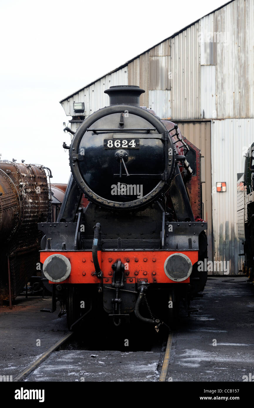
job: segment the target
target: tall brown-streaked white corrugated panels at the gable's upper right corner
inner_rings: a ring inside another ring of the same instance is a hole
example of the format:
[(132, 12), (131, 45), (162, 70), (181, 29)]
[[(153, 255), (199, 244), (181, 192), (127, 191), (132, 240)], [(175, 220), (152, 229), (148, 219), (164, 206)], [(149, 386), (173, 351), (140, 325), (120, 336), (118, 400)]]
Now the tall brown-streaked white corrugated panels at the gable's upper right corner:
[(254, 1), (235, 0), (216, 11), (217, 118), (254, 117)]

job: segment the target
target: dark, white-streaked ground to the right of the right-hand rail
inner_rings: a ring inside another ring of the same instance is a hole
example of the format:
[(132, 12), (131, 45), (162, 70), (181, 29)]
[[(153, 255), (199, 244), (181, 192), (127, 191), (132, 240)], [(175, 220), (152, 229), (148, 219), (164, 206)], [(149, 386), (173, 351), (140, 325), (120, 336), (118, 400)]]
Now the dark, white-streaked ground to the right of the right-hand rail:
[[(254, 375), (254, 285), (244, 277), (210, 277), (199, 312), (174, 334), (172, 381), (243, 381)], [(253, 377), (254, 379), (254, 377)]]

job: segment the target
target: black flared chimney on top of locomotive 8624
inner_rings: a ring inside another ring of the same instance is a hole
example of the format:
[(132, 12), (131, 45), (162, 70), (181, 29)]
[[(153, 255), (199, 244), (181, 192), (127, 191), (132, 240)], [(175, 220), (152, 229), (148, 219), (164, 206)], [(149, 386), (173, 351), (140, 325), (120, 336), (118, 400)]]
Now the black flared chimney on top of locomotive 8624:
[(109, 95), (109, 104), (110, 105), (134, 105), (140, 106), (140, 95), (144, 93), (144, 89), (140, 89), (136, 85), (118, 85), (110, 86), (109, 89), (106, 89), (104, 93)]

